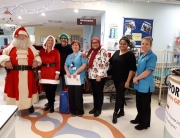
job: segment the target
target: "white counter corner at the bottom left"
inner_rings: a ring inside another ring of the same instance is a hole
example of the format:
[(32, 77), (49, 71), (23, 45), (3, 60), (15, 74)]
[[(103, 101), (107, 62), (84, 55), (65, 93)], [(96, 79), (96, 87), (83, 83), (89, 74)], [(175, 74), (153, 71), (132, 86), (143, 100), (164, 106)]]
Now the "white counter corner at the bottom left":
[(15, 124), (18, 107), (15, 105), (0, 105), (0, 138), (15, 138)]

